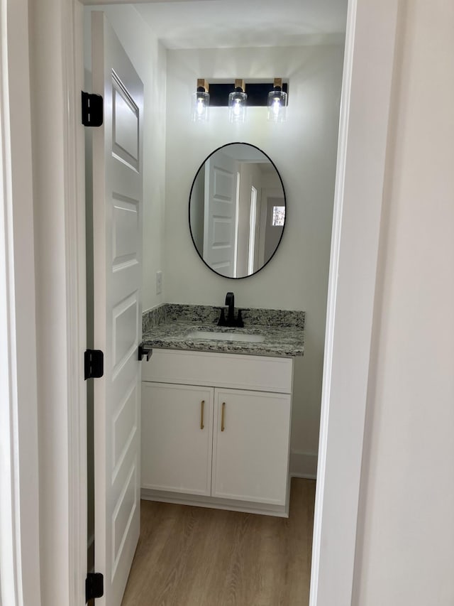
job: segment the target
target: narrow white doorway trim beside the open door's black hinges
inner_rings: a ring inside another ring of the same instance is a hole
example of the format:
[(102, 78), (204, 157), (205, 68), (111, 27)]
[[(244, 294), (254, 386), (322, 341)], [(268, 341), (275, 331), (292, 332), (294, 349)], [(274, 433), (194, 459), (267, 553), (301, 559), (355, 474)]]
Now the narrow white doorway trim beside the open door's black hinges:
[[(87, 575), (87, 386), (84, 351), (87, 349), (87, 277), (85, 243), (84, 131), (80, 124), (80, 91), (84, 72), (77, 60), (83, 54), (83, 8), (76, 0), (62, 11), (65, 114), (65, 213), (67, 253), (67, 359), (70, 603), (85, 601)], [(75, 85), (75, 86), (74, 86)], [(73, 464), (71, 464), (73, 463)]]

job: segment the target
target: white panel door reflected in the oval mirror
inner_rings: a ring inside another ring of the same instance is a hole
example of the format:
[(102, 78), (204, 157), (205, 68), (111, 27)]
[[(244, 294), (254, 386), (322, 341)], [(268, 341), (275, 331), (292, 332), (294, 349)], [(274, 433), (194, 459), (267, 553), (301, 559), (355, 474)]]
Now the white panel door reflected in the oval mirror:
[(236, 161), (218, 151), (205, 166), (204, 261), (223, 276), (235, 277)]

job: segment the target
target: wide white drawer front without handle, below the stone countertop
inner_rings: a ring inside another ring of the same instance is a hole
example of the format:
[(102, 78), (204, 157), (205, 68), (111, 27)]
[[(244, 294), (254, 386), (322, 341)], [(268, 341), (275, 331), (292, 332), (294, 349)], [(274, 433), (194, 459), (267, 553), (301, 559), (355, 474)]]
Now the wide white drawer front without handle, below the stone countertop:
[(289, 394), (292, 372), (291, 358), (155, 349), (142, 380)]

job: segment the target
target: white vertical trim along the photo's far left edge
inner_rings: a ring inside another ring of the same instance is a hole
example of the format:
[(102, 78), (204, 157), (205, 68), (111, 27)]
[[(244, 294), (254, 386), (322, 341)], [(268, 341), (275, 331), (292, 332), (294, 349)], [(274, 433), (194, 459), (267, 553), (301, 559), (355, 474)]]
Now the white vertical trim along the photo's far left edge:
[(28, 3), (0, 6), (0, 602), (25, 606), (40, 595)]

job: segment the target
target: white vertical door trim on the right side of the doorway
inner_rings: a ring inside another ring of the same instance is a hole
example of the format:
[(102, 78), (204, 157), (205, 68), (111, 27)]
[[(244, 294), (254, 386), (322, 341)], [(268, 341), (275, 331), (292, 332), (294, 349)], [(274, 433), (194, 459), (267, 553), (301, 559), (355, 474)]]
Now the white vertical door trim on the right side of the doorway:
[(352, 602), (396, 26), (394, 0), (350, 0), (328, 285), (310, 606), (348, 606)]

